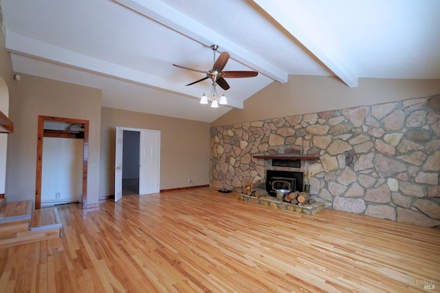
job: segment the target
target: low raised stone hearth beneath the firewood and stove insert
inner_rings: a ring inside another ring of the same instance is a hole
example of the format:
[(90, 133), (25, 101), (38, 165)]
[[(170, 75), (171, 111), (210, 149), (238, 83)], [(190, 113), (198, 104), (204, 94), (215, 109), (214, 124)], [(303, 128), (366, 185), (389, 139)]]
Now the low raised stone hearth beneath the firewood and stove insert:
[(255, 196), (248, 196), (246, 194), (237, 194), (238, 200), (244, 200), (245, 202), (254, 202), (256, 204), (262, 204), (268, 207), (276, 207), (277, 209), (284, 209), (287, 211), (294, 211), (295, 213), (305, 213), (306, 215), (316, 215), (324, 209), (324, 202), (315, 202), (313, 204), (303, 204), (298, 206), (297, 204), (291, 204), (289, 202), (280, 202), (273, 196), (262, 196), (256, 198)]

